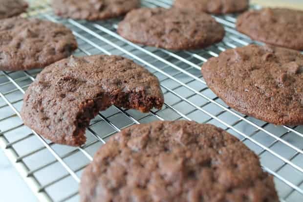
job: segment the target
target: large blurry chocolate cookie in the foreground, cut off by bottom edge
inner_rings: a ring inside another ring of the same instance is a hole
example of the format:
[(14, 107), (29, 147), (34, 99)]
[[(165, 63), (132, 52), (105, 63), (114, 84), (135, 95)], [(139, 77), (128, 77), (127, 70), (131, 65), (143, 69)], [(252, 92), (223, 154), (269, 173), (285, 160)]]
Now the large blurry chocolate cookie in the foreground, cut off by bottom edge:
[(273, 178), (213, 125), (159, 121), (110, 138), (85, 169), (81, 202), (278, 202)]

